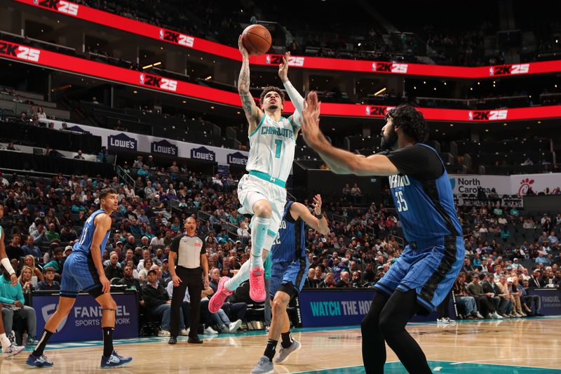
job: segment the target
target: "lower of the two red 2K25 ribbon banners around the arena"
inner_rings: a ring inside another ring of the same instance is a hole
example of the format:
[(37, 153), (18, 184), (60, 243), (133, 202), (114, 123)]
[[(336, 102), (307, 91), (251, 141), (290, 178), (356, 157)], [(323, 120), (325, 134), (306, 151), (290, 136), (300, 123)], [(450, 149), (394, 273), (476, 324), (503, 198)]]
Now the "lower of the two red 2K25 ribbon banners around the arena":
[[(65, 72), (83, 74), (118, 84), (126, 84), (140, 88), (149, 88), (164, 93), (187, 96), (199, 100), (216, 102), (223, 105), (241, 107), (241, 100), (238, 93), (222, 91), (217, 88), (199, 86), (184, 81), (155, 76), (135, 70), (123, 69), (113, 65), (102, 64), (76, 58), (73, 56), (62, 55), (39, 48), (32, 48), (0, 40), (0, 58), (15, 60), (50, 67), (52, 69), (63, 70)], [(379, 105), (354, 105), (354, 104), (333, 104), (323, 103), (321, 112), (324, 116), (356, 116), (384, 118), (389, 109), (393, 107)], [(418, 108), (426, 119), (431, 121), (513, 121), (520, 119), (546, 119), (561, 117), (561, 105), (546, 107), (527, 107), (501, 110), (482, 110), (472, 111), (467, 109), (435, 109)], [(294, 112), (291, 102), (285, 102), (285, 113)]]

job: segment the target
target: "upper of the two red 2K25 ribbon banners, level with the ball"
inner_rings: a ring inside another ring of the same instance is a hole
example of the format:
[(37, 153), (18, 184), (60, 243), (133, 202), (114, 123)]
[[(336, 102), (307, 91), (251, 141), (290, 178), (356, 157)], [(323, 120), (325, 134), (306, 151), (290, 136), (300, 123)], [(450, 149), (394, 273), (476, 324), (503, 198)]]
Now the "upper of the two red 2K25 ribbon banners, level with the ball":
[[(163, 29), (148, 23), (130, 20), (113, 13), (98, 11), (97, 9), (75, 4), (64, 0), (15, 0), (22, 4), (52, 11), (61, 15), (79, 18), (98, 25), (119, 29), (131, 34), (145, 36), (158, 41), (194, 49), (231, 60), (241, 61), (237, 48), (224, 46), (205, 39)], [(282, 61), (280, 55), (251, 56), (251, 63), (255, 65), (276, 66)], [(541, 74), (560, 72), (561, 61), (532, 62), (529, 64), (498, 65), (484, 67), (457, 67), (442, 65), (404, 64), (394, 62), (377, 62), (364, 60), (344, 60), (338, 58), (318, 58), (309, 56), (291, 56), (288, 62), (291, 67), (305, 69), (325, 69), (348, 72), (370, 72), (373, 74), (405, 74), (417, 76), (439, 76), (454, 78), (489, 78), (494, 76), (510, 76), (518, 74)]]

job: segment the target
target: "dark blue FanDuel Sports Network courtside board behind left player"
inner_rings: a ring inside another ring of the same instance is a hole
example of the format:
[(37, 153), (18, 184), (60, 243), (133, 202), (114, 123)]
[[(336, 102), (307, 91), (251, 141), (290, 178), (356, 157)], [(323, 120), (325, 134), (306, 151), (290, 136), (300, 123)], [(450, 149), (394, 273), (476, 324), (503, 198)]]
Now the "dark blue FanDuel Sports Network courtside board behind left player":
[[(135, 293), (111, 294), (117, 303), (115, 338), (138, 337), (138, 310)], [(37, 314), (37, 331), (43, 331), (45, 323), (58, 305), (58, 293), (33, 294), (33, 309)], [(51, 342), (69, 342), (102, 339), (102, 309), (88, 294), (76, 298), (74, 307), (50, 338)]]

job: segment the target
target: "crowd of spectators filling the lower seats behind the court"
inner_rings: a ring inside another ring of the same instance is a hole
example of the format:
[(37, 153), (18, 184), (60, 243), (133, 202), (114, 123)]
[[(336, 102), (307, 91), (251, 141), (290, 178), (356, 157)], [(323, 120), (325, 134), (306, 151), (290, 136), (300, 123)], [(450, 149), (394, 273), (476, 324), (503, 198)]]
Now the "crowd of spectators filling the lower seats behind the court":
[[(135, 179), (134, 185), (122, 184), (118, 177), (108, 180), (99, 176), (71, 175), (66, 178), (59, 174), (45, 180), (15, 174), (2, 176), (0, 202), (4, 204), (4, 218), (0, 224), (6, 233), (8, 258), (20, 276), (20, 284), (16, 286), (19, 290), (13, 294), (18, 298), (8, 304), (18, 302), (19, 305), (21, 302), (29, 306), (25, 295), (32, 290), (60, 287), (58, 279), (65, 258), (72, 253), (72, 244), (79, 238), (83, 223), (97, 209), (97, 194), (104, 187), (116, 188), (120, 201), (118, 211), (112, 215), (113, 231), (104, 257), (105, 274), (114, 284), (132, 286), (141, 295), (143, 287), (150, 282), (158, 282), (165, 288), (165, 281), (170, 276), (167, 260), (170, 245), (182, 232), (182, 222), (189, 215), (197, 217), (198, 235), (205, 241), (211, 274), (215, 272), (215, 277), (232, 276), (248, 260), (251, 248), (249, 220), (237, 212), (239, 203), (232, 175), (203, 178), (182, 170), (175, 162), (167, 170), (158, 169), (151, 159), (144, 162), (142, 157), (135, 161), (133, 168), (126, 166), (125, 170)], [(330, 233), (323, 235), (313, 229), (306, 232), (310, 261), (306, 287), (370, 287), (386, 274), (403, 251), (400, 222), (392, 208), (376, 203), (353, 206), (353, 197), (360, 194), (357, 185), (346, 185), (343, 194), (346, 197), (340, 201), (324, 203)], [(309, 205), (306, 199), (302, 202)], [(524, 291), (518, 290), (518, 284), (524, 287), (525, 281), (529, 281), (530, 287), (559, 286), (560, 245), (555, 233), (561, 229), (561, 213), (535, 217), (525, 215), (521, 208), (500, 206), (492, 201), (478, 207), (458, 209), (464, 227), (467, 283), (480, 278), (485, 284), (483, 276), (492, 274), (502, 286), (495, 286), (495, 295), (485, 297), (511, 301), (507, 303), (508, 307), (499, 300), (494, 309), (479, 309), (480, 305), (493, 306), (495, 299), (487, 300), (489, 302), (476, 300), (475, 308), (478, 309), (475, 312), (473, 301), (461, 302), (464, 309), (472, 307), (466, 309), (471, 312), (464, 312), (466, 317), (479, 318), (478, 313), (493, 315), (494, 312), (501, 316), (527, 314), (532, 305), (524, 303), (530, 298), (519, 294)], [(534, 272), (539, 280), (527, 279)], [(510, 279), (520, 276), (520, 283), (513, 281), (508, 288)], [(466, 289), (458, 291), (459, 298), (481, 296), (474, 295), (468, 286)], [(506, 295), (506, 289), (513, 292)], [(212, 294), (211, 290), (203, 292)], [(4, 295), (6, 300), (13, 296), (10, 295)], [(141, 305), (154, 314), (157, 314), (156, 309), (162, 314), (161, 334), (165, 334), (168, 320), (163, 313), (167, 307), (159, 306), (168, 304), (169, 295), (161, 293), (158, 298), (161, 300), (144, 300), (141, 296)], [(539, 306), (534, 305), (532, 313), (539, 313), (538, 309)], [(31, 313), (32, 309), (26, 310)], [(235, 315), (203, 318), (206, 321), (203, 328), (207, 332), (238, 328), (238, 319), (243, 319), (245, 312), (239, 314), (238, 309), (230, 312)], [(188, 316), (183, 317), (188, 319)], [(217, 326), (216, 330), (210, 328), (213, 325)], [(32, 344), (32, 330), (28, 333)]]

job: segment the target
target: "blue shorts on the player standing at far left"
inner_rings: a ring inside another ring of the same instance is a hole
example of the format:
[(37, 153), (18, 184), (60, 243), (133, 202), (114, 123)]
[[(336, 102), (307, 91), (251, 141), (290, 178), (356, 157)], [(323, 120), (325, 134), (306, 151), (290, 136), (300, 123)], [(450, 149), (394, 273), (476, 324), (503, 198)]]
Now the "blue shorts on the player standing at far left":
[(102, 294), (102, 284), (93, 260), (81, 253), (71, 253), (62, 268), (60, 295), (76, 298), (80, 290), (97, 298)]

